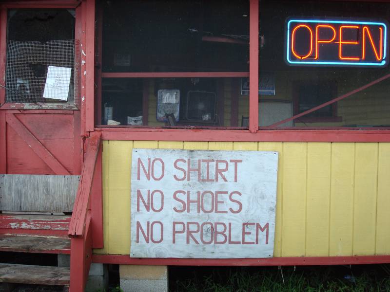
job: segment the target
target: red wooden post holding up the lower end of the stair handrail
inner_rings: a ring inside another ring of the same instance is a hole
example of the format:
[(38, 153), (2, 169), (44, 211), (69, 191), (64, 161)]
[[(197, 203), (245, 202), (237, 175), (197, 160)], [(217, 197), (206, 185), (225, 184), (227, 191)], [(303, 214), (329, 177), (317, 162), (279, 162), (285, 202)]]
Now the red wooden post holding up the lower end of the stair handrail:
[(81, 292), (87, 283), (92, 262), (91, 217), (85, 221), (85, 236), (71, 238), (70, 253), (70, 292)]

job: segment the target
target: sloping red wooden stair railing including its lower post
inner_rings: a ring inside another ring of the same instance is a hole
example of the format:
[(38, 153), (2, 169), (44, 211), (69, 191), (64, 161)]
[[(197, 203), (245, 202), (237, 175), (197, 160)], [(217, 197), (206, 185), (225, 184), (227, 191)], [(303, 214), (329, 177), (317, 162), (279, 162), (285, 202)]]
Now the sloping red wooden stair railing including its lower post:
[[(93, 246), (92, 237), (93, 230), (102, 228), (100, 162), (101, 134), (92, 132), (86, 140), (85, 159), (68, 231), (68, 236), (71, 237), (71, 292), (84, 291), (92, 261), (92, 248), (101, 247)], [(97, 184), (100, 184), (100, 187)], [(94, 225), (98, 228), (93, 228)], [(101, 242), (102, 239), (98, 241)]]

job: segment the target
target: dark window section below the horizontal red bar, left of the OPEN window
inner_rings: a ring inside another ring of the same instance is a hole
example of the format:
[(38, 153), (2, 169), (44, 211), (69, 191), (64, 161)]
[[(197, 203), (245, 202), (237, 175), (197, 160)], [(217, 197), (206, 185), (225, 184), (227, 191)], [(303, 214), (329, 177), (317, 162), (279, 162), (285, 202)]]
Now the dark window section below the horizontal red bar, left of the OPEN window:
[(103, 78), (100, 125), (248, 127), (241, 78)]

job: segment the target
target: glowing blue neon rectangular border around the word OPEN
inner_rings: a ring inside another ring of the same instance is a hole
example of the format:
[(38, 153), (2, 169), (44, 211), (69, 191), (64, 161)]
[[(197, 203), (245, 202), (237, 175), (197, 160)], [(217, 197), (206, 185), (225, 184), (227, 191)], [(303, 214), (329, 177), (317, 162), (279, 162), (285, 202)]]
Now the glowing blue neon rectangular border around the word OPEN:
[[(331, 62), (331, 61), (292, 61), (290, 60), (290, 24), (292, 22), (316, 22), (316, 23), (348, 23), (348, 24), (368, 24), (368, 25), (382, 25), (384, 27), (384, 48), (383, 58), (380, 63), (367, 62)], [(387, 52), (387, 25), (384, 22), (370, 22), (370, 21), (347, 21), (347, 20), (321, 20), (321, 19), (290, 19), (287, 23), (287, 62), (290, 64), (318, 64), (318, 65), (354, 65), (354, 66), (385, 66), (386, 52)]]

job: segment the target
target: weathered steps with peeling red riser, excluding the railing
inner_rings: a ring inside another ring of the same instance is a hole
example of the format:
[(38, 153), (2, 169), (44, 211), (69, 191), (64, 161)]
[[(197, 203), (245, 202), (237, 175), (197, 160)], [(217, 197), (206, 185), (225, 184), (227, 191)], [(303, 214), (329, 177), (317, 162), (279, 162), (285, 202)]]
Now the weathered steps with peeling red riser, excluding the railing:
[[(69, 216), (0, 214), (0, 252), (70, 254)], [(70, 268), (0, 263), (0, 282), (70, 285)]]

